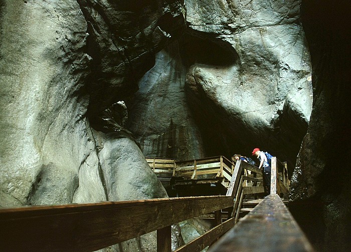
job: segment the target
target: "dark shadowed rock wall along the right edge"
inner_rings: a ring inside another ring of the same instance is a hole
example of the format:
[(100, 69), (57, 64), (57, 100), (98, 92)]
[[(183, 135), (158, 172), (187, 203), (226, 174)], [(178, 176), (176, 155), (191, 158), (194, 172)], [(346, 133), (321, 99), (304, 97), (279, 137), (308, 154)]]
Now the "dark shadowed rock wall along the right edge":
[(302, 1), (311, 52), (313, 110), (289, 203), (318, 251), (351, 250), (351, 27), (347, 1)]

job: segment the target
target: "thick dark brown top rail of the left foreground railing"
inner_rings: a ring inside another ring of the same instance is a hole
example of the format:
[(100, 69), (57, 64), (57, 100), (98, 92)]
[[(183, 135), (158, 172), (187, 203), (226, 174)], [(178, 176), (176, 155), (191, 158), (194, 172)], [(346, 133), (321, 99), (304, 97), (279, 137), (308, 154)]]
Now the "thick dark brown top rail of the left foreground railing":
[(232, 205), (232, 197), (201, 196), (0, 209), (0, 244), (4, 251), (94, 251)]

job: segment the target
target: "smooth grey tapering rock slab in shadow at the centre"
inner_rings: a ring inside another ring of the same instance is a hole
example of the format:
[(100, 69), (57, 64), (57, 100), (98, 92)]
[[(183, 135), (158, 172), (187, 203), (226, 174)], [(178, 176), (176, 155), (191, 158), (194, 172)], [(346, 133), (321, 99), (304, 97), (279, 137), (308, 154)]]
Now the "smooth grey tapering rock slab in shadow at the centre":
[(185, 93), (185, 76), (179, 44), (174, 43), (156, 54), (154, 67), (140, 79), (127, 127), (145, 156), (179, 160), (204, 156)]

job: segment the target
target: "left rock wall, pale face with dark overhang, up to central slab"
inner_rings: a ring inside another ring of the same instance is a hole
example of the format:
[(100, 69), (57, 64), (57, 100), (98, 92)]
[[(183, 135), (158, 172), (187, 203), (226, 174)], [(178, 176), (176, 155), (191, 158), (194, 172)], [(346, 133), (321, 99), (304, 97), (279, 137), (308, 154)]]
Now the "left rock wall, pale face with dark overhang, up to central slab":
[(1, 207), (167, 197), (133, 138), (101, 132), (101, 118), (184, 30), (184, 6), (110, 2), (0, 1)]

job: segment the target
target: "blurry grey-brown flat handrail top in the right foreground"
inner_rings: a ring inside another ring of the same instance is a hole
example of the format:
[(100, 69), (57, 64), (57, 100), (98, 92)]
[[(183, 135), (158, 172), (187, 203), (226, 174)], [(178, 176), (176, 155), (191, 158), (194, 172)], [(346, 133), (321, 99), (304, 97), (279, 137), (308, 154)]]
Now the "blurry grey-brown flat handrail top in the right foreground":
[(208, 252), (313, 251), (277, 194), (268, 195)]

